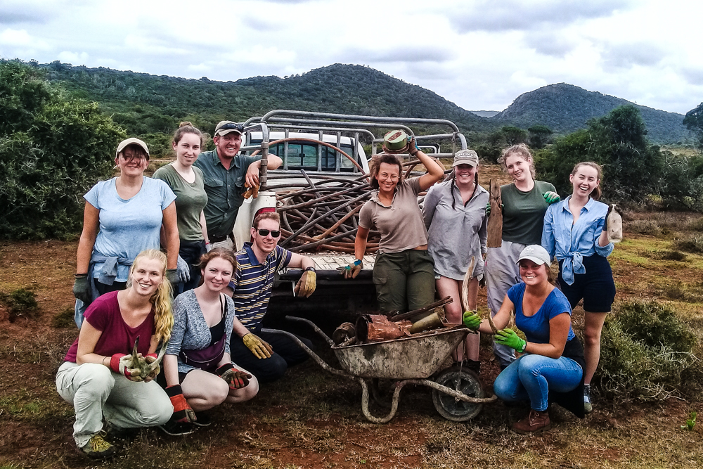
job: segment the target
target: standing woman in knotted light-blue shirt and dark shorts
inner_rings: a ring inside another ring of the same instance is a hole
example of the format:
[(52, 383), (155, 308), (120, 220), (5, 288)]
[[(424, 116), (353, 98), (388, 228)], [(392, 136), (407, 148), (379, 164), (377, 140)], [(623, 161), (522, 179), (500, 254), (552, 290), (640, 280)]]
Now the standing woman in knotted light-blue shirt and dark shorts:
[(606, 259), (614, 248), (606, 222), (612, 206), (598, 202), (601, 179), (602, 169), (594, 162), (574, 166), (569, 175), (572, 195), (547, 209), (542, 229), (542, 245), (559, 261), (559, 285), (572, 309), (583, 300), (586, 413), (593, 411), (591, 379), (600, 361), (600, 332), (615, 300), (615, 283)]

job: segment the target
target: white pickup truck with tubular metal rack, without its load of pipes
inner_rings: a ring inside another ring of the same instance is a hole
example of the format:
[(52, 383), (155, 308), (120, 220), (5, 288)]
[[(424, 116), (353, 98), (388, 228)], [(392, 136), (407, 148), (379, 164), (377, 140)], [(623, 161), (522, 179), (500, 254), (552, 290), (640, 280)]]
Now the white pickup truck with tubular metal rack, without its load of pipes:
[[(443, 127), (449, 131), (432, 133)], [(363, 174), (368, 174), (370, 157), (381, 150), (382, 134), (390, 129), (403, 129), (408, 135), (415, 136), (418, 146), (434, 158), (453, 158), (456, 151), (466, 148), (465, 137), (448, 120), (273, 110), (245, 122), (245, 142), (241, 151), (261, 152), (262, 155), (273, 153), (283, 160), (283, 165), (276, 170), (267, 170), (262, 164), (262, 187), (258, 196), (245, 200), (239, 210), (234, 227), (237, 246), (241, 247), (250, 240), (250, 226), (259, 212), (276, 210), (276, 192), (285, 186), (306, 184), (301, 169), (312, 181), (330, 175), (338, 179), (363, 178)], [(418, 129), (430, 133), (421, 134)], [(370, 155), (366, 155), (362, 142), (367, 148), (370, 146)], [(400, 156), (409, 158), (409, 155)], [(272, 178), (270, 181), (269, 177)], [(268, 190), (269, 186), (273, 190)], [(358, 215), (355, 216), (358, 219)], [(279, 316), (300, 309), (317, 309), (335, 312), (339, 318), (340, 314), (378, 311), (371, 279), (375, 255), (364, 256), (359, 276), (354, 280), (344, 280), (338, 269), (353, 262), (354, 254), (317, 251), (301, 254), (309, 255), (316, 264), (316, 292), (307, 299), (295, 298), (292, 289), (301, 271), (284, 269), (279, 272), (274, 285), (271, 313)]]

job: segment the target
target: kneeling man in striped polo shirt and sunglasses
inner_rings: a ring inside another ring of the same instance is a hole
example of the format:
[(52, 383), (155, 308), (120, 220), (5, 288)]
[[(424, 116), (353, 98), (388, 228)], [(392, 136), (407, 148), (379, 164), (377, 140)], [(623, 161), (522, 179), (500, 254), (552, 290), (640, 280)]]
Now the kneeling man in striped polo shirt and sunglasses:
[[(277, 380), (288, 366), (307, 359), (307, 354), (290, 338), (262, 331), (262, 319), (269, 306), (273, 276), (283, 267), (303, 269), (295, 285), (295, 294), (309, 297), (316, 288), (314, 262), (278, 245), (280, 219), (276, 212), (264, 212), (254, 218), (252, 243), (237, 252), (237, 266), (230, 282), (237, 319), (247, 332), (235, 331), (230, 340), (232, 361), (261, 382)], [(240, 335), (241, 334), (241, 335)], [(300, 338), (308, 347), (312, 343)]]

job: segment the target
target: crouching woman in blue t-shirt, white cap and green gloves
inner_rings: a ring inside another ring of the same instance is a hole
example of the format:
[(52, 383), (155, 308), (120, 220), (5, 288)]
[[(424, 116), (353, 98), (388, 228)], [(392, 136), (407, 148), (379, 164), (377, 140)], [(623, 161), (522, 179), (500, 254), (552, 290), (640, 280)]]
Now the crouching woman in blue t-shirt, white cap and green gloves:
[[(529, 245), (520, 253), (518, 283), (508, 290), (503, 306), (494, 317), (496, 342), (522, 353), (496, 378), (494, 392), (503, 401), (530, 401), (529, 415), (512, 425), (520, 432), (539, 432), (551, 427), (547, 406), (550, 400), (583, 418), (583, 347), (571, 328), (571, 305), (553, 285), (547, 251)], [(505, 328), (510, 311), (527, 342)], [(465, 313), (464, 324), (491, 334), (487, 321)]]

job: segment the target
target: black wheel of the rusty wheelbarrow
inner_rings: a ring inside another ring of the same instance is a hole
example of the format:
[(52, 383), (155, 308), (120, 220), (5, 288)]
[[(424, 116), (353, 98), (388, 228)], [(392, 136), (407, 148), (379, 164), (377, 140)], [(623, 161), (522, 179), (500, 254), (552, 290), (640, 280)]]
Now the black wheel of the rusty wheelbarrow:
[[(452, 366), (440, 373), (434, 381), (470, 397), (484, 397), (479, 377), (467, 368)], [(432, 390), (432, 401), (439, 415), (453, 422), (471, 420), (483, 409), (483, 404), (460, 401), (438, 390)]]

